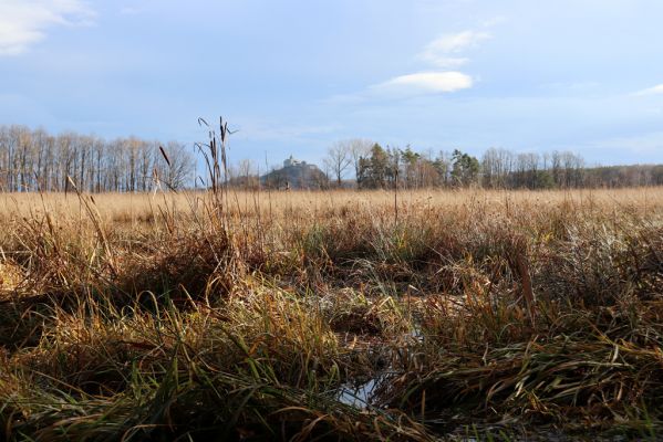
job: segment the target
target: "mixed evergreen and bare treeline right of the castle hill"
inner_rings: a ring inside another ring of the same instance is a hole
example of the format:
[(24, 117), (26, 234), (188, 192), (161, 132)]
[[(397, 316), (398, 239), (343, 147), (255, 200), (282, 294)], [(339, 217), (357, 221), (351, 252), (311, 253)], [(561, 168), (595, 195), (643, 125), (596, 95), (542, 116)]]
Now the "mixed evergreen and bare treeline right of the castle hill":
[(383, 148), (376, 143), (352, 139), (330, 147), (328, 173), (338, 186), (354, 165), (360, 189), (483, 187), (488, 189), (571, 189), (584, 187), (636, 187), (663, 185), (663, 165), (594, 167), (580, 155), (512, 152), (490, 148), (479, 158), (458, 149), (433, 155), (410, 146)]

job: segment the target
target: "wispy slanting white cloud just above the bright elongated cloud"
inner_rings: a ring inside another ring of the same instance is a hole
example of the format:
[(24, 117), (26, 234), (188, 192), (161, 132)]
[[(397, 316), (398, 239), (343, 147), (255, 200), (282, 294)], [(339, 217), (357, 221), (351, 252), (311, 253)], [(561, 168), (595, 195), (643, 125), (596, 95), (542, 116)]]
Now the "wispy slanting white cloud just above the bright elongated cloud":
[(480, 42), (489, 39), (491, 39), (489, 33), (477, 31), (445, 34), (428, 43), (418, 59), (437, 67), (459, 67), (469, 61), (466, 57), (459, 57), (459, 53), (476, 48)]

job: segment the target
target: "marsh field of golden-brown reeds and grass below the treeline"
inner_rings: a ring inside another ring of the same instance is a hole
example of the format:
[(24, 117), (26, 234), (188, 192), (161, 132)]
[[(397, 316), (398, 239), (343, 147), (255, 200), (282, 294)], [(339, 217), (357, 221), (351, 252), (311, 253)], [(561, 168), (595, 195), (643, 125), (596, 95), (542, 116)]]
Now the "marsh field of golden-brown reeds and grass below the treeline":
[(656, 440), (663, 189), (0, 194), (6, 440)]

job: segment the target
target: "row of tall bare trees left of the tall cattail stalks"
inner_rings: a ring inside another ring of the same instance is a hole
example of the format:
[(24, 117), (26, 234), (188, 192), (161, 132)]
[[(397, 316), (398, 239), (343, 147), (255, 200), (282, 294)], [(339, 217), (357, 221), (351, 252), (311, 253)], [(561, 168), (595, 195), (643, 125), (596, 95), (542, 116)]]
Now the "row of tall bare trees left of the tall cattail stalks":
[(162, 145), (135, 137), (108, 141), (0, 126), (1, 191), (73, 190), (69, 178), (89, 192), (146, 191), (157, 183), (178, 189), (193, 183), (194, 172), (193, 156), (175, 141)]

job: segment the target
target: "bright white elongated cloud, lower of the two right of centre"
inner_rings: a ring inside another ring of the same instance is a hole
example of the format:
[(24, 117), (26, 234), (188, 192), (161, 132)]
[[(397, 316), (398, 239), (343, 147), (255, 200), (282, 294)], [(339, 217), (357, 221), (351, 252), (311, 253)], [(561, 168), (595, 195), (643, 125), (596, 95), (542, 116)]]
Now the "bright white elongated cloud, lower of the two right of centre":
[(407, 97), (455, 92), (472, 85), (472, 77), (462, 72), (418, 72), (373, 85), (370, 92), (380, 96)]

